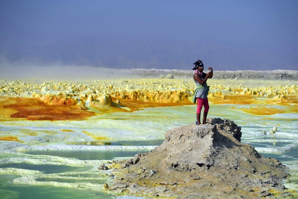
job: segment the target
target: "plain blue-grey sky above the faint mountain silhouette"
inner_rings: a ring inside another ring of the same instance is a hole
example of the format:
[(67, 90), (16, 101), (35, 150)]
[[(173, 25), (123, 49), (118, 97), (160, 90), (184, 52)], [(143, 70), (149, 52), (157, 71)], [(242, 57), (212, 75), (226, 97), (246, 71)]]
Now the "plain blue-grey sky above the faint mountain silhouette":
[[(295, 0), (1, 0), (0, 52), (7, 56), (26, 46), (46, 46), (72, 36), (94, 36), (137, 41), (211, 40), (212, 45), (234, 43), (234, 48), (243, 43), (249, 48), (248, 44), (253, 43), (278, 49), (274, 52), (277, 56), (278, 52), (295, 56), (297, 10)], [(291, 69), (298, 64), (297, 57), (292, 58)]]

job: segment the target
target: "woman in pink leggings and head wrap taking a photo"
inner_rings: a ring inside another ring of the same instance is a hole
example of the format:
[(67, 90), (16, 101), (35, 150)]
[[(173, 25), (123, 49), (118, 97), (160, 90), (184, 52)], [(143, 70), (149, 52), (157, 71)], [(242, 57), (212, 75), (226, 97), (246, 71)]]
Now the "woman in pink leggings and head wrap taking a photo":
[(208, 92), (209, 92), (209, 86), (207, 85), (207, 79), (212, 78), (213, 76), (213, 70), (212, 68), (208, 68), (210, 72), (203, 73), (204, 70), (204, 64), (201, 60), (196, 61), (193, 63), (193, 80), (195, 81), (195, 84), (197, 85), (197, 88), (195, 89), (195, 92), (193, 94), (193, 103), (196, 103), (195, 101), (198, 101), (198, 107), (197, 107), (197, 122), (195, 122), (196, 125), (201, 124), (201, 110), (204, 106), (204, 113), (203, 113), (203, 122), (202, 124), (206, 124), (206, 118), (209, 111), (209, 103), (208, 103)]

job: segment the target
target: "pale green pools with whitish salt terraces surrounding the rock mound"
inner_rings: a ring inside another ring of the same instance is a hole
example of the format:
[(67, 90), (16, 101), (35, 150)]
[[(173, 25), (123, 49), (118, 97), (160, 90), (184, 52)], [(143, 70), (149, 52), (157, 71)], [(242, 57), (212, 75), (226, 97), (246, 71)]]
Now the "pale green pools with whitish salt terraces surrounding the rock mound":
[[(241, 126), (241, 142), (286, 165), (291, 178), (285, 186), (298, 190), (298, 114), (256, 116), (238, 109), (242, 107), (211, 105), (208, 117), (227, 118)], [(110, 113), (84, 121), (1, 122), (1, 136), (17, 136), (23, 143), (0, 141), (0, 196), (117, 198), (103, 189), (104, 183), (112, 184), (110, 170), (97, 167), (152, 150), (163, 142), (167, 130), (194, 124), (195, 110), (189, 105)], [(277, 132), (271, 135), (274, 125)], [(94, 140), (90, 134), (107, 140)]]

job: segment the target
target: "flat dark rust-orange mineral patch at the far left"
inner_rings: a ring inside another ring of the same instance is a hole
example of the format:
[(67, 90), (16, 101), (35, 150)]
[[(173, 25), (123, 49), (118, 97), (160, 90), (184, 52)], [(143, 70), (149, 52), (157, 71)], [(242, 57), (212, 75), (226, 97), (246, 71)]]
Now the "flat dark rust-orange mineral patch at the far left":
[(48, 105), (35, 98), (2, 98), (0, 109), (18, 111), (10, 115), (12, 118), (27, 118), (28, 120), (84, 120), (95, 114), (90, 111), (77, 109), (77, 106)]

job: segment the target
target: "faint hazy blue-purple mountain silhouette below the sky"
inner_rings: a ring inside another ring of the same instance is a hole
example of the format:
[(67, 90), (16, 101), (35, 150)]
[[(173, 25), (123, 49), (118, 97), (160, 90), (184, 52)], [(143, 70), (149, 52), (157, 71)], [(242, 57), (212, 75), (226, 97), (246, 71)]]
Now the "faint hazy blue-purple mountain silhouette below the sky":
[[(297, 70), (298, 59), (271, 46), (248, 41), (202, 39), (136, 40), (69, 37), (43, 46), (1, 49), (2, 63), (37, 66), (92, 66), (122, 69), (191, 69), (197, 59), (217, 70)], [(4, 60), (4, 61), (3, 61)]]

